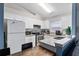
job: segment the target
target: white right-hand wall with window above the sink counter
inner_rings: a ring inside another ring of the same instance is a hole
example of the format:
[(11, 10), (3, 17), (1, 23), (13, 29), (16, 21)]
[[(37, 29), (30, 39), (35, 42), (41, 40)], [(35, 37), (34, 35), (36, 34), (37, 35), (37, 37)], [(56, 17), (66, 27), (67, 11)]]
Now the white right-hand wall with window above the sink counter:
[(52, 17), (49, 19), (49, 27), (50, 31), (52, 32), (52, 27), (61, 27), (61, 29), (65, 29), (68, 26), (72, 27), (72, 15), (66, 14), (66, 15), (60, 15), (57, 17)]

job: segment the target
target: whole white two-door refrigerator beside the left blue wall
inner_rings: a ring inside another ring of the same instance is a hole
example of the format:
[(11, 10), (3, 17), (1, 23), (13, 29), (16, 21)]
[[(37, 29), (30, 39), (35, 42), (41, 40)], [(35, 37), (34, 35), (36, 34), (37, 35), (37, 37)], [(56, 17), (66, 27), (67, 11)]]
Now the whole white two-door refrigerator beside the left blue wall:
[(22, 50), (25, 41), (25, 23), (17, 20), (7, 21), (7, 47), (14, 54)]

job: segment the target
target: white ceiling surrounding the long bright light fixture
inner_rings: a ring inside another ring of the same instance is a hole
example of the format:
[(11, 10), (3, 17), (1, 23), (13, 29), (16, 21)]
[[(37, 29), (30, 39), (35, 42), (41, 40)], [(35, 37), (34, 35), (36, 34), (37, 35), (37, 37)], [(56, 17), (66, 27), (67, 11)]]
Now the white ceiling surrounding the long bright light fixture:
[(67, 14), (67, 13), (72, 12), (71, 3), (45, 3), (45, 4), (47, 4), (51, 8), (52, 10), (51, 13), (46, 12), (37, 3), (14, 3), (14, 4), (8, 4), (8, 6), (16, 8), (16, 9), (19, 9), (19, 7), (17, 6), (20, 6), (34, 15), (39, 14), (42, 18), (48, 18), (48, 17), (53, 17), (53, 16)]

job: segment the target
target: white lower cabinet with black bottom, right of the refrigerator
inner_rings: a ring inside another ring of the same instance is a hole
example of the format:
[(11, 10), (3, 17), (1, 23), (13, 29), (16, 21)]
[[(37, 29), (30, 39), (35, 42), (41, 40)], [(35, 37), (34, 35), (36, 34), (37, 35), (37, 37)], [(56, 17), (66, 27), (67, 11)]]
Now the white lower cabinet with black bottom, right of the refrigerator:
[(22, 44), (22, 50), (35, 46), (35, 35), (26, 35), (25, 42)]

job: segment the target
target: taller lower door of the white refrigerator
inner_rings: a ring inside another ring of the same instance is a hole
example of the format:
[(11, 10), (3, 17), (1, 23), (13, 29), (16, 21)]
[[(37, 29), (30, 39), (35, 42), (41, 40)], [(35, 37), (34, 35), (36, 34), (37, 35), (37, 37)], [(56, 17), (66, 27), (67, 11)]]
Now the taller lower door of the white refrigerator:
[(25, 42), (25, 34), (8, 34), (7, 47), (10, 47), (11, 54), (21, 51), (22, 44)]

